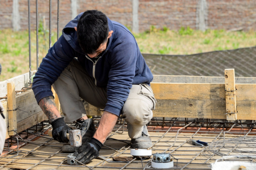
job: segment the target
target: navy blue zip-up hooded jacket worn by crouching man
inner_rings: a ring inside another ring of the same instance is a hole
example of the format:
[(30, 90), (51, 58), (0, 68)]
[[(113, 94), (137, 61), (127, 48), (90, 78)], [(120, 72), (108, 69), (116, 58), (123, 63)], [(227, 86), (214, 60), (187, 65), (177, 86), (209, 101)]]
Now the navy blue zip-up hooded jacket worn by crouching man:
[(120, 116), (124, 102), (128, 98), (132, 85), (153, 80), (137, 42), (124, 25), (108, 18), (109, 31), (113, 30), (107, 48), (95, 64), (82, 51), (74, 27), (83, 13), (70, 21), (62, 31), (62, 36), (49, 49), (43, 58), (35, 77), (33, 92), (37, 103), (47, 96), (52, 96), (51, 85), (74, 57), (77, 57), (88, 74), (94, 78), (98, 87), (107, 87), (108, 101), (104, 110)]

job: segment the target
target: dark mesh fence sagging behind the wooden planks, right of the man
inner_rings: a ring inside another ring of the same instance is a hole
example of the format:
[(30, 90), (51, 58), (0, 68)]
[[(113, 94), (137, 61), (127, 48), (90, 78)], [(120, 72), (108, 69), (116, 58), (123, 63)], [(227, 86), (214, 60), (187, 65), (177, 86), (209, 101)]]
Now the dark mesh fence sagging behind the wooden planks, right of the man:
[(143, 54), (153, 74), (221, 76), (235, 69), (236, 76), (256, 77), (256, 46), (191, 55)]

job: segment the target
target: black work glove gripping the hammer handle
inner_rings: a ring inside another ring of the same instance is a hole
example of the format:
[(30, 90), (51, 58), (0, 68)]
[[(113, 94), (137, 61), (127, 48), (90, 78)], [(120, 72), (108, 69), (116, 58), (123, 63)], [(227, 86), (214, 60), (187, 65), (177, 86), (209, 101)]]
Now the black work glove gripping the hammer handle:
[(64, 118), (58, 118), (52, 121), (52, 137), (60, 143), (69, 143), (67, 133), (71, 130), (64, 122)]

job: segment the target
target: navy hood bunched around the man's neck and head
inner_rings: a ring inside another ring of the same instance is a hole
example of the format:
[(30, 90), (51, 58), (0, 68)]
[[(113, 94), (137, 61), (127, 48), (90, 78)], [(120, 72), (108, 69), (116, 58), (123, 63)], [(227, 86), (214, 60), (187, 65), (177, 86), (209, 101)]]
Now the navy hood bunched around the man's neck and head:
[[(77, 40), (77, 33), (76, 30), (74, 29), (74, 27), (77, 27), (78, 24), (78, 20), (80, 19), (80, 17), (82, 16), (83, 13), (80, 13), (78, 16), (76, 16), (76, 18), (74, 18), (73, 20), (71, 20), (62, 30), (62, 34), (65, 38), (65, 40), (69, 43), (69, 45), (77, 52), (81, 53), (81, 54), (85, 54), (85, 52), (82, 50), (82, 48), (79, 45), (79, 42)], [(108, 18), (108, 17), (107, 17)], [(108, 39), (108, 46), (106, 48), (105, 51), (108, 51), (111, 42), (113, 40), (113, 36), (114, 36), (114, 25), (112, 23), (112, 21), (108, 18), (108, 27), (109, 27), (109, 31), (113, 31), (112, 36)]]

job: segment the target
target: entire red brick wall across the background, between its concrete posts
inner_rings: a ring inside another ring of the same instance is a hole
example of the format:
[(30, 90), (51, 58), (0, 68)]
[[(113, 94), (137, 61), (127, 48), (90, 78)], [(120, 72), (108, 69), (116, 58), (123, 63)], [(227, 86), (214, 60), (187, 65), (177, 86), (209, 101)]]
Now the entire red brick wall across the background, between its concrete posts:
[[(48, 27), (49, 1), (38, 0), (39, 19), (43, 16)], [(57, 25), (57, 0), (52, 0), (52, 28)], [(72, 18), (71, 0), (60, 1), (60, 28)], [(133, 0), (77, 0), (77, 14), (88, 9), (98, 9), (111, 20), (132, 28)], [(208, 5), (208, 28), (210, 29), (256, 29), (256, 0), (206, 0)], [(35, 29), (35, 0), (30, 0), (31, 24)], [(196, 29), (198, 0), (139, 0), (139, 31), (150, 25), (166, 26), (177, 30), (181, 26)], [(0, 0), (0, 29), (12, 27), (13, 0)], [(20, 27), (28, 29), (28, 0), (19, 0)]]

